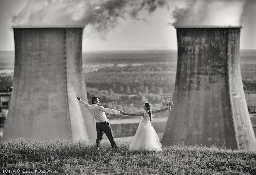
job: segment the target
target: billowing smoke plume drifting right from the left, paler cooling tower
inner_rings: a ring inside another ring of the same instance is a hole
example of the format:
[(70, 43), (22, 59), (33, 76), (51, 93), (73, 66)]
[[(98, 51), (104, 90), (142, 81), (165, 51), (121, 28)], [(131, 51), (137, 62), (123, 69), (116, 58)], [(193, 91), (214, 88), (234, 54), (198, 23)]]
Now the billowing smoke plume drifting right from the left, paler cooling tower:
[(165, 0), (28, 0), (12, 17), (14, 25), (85, 25), (96, 32), (107, 32), (120, 19), (149, 14), (166, 5)]

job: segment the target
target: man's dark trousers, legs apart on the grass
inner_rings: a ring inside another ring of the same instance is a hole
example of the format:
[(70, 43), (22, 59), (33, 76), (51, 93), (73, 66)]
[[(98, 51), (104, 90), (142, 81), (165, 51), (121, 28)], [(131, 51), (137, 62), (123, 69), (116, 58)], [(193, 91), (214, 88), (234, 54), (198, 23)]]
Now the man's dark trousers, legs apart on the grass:
[(96, 130), (97, 130), (97, 139), (96, 139), (96, 148), (99, 147), (99, 143), (103, 139), (103, 133), (106, 134), (108, 140), (111, 143), (112, 148), (117, 148), (114, 135), (112, 134), (111, 127), (109, 126), (108, 122), (97, 122), (96, 123)]

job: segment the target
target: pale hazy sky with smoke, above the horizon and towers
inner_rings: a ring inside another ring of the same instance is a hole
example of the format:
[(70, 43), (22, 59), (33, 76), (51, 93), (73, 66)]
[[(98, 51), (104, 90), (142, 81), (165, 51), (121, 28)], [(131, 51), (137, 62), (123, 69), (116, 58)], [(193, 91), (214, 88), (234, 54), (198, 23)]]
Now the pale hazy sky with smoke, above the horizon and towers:
[[(166, 0), (169, 8), (157, 5), (153, 10), (150, 4), (140, 8), (138, 4), (127, 5), (127, 0), (113, 0), (118, 3), (109, 6), (108, 1), (0, 0), (0, 50), (14, 50), (12, 25), (56, 22), (85, 25), (84, 52), (177, 50), (174, 25), (196, 24), (242, 25), (240, 49), (256, 49), (256, 0)], [(113, 6), (119, 15), (99, 15), (113, 10)], [(138, 13), (130, 13), (132, 9)], [(122, 14), (125, 19), (120, 17)]]

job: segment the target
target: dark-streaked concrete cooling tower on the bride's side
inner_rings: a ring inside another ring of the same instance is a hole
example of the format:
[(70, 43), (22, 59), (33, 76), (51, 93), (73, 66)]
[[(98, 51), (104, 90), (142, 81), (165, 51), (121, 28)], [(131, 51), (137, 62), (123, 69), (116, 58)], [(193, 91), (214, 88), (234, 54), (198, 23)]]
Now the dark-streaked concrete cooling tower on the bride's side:
[(256, 150), (239, 60), (239, 27), (176, 27), (174, 106), (162, 144)]

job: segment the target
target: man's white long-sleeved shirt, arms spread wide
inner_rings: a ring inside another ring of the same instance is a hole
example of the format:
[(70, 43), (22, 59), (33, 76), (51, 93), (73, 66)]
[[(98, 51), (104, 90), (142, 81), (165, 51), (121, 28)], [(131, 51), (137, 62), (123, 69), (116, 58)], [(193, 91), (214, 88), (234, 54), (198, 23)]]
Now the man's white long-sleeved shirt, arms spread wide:
[(79, 102), (84, 105), (88, 111), (91, 113), (91, 115), (94, 118), (95, 122), (107, 122), (108, 119), (106, 117), (106, 113), (109, 114), (120, 114), (120, 111), (110, 109), (110, 108), (104, 108), (103, 106), (98, 106), (97, 104), (89, 105), (88, 103), (84, 102), (83, 100), (79, 100)]

